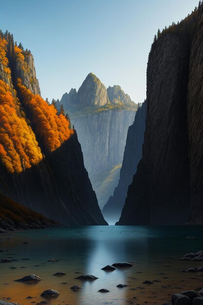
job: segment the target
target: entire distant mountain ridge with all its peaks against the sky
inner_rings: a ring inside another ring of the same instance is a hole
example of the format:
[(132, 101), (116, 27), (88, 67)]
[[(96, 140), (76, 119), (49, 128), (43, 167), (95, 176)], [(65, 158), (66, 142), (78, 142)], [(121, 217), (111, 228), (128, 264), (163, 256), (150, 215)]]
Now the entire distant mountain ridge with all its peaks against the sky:
[(57, 103), (58, 111), (61, 104), (63, 104), (64, 110), (72, 116), (110, 109), (137, 109), (137, 104), (131, 100), (128, 94), (125, 94), (120, 86), (109, 86), (106, 89), (105, 85), (93, 73), (88, 74), (78, 92), (72, 88), (69, 93), (66, 92), (62, 96), (60, 102)]

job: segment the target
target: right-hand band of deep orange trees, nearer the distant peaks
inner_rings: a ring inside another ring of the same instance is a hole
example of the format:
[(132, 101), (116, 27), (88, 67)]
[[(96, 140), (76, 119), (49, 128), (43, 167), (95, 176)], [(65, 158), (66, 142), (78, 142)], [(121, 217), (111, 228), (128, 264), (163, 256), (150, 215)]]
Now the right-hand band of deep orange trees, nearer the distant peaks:
[(74, 133), (70, 129), (69, 121), (63, 114), (57, 115), (55, 107), (48, 105), (40, 95), (34, 95), (23, 86), (20, 78), (17, 87), (25, 108), (32, 115), (32, 122), (45, 149), (53, 152)]

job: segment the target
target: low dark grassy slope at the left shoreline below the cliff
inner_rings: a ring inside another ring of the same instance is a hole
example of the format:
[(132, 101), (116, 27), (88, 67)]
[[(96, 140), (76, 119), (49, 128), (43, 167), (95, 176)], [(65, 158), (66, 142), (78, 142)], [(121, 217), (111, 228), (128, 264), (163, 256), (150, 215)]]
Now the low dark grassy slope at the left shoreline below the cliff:
[(59, 224), (0, 194), (0, 233), (55, 226)]

